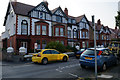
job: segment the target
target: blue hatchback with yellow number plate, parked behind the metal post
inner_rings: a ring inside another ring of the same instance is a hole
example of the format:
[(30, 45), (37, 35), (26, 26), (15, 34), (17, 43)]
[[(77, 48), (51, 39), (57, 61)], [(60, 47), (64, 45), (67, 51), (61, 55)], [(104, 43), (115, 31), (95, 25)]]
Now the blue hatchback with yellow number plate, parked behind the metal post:
[[(97, 68), (106, 70), (111, 65), (118, 64), (118, 59), (114, 53), (107, 48), (96, 48)], [(82, 68), (95, 67), (94, 48), (86, 49), (80, 56), (80, 65)]]

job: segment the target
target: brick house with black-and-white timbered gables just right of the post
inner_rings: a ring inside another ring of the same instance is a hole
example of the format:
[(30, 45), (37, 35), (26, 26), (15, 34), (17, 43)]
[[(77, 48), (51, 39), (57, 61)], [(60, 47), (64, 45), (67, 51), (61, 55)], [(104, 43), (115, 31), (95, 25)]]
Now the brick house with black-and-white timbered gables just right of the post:
[[(90, 24), (92, 25), (91, 21)], [(111, 30), (108, 26), (101, 24), (100, 19), (95, 23), (96, 26), (96, 45), (108, 46), (111, 41)]]

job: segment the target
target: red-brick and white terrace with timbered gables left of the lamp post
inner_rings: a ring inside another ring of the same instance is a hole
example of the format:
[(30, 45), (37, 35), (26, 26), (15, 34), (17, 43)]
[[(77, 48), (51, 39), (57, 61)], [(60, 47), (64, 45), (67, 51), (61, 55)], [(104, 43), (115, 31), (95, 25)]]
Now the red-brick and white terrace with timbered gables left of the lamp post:
[[(37, 43), (38, 49), (44, 49), (50, 41), (80, 48), (93, 46), (93, 28), (85, 15), (73, 17), (68, 15), (67, 8), (50, 10), (48, 6), (47, 1), (37, 6), (10, 1), (2, 33), (3, 48), (11, 46), (18, 51), (25, 47), (30, 51)], [(100, 33), (103, 32), (101, 28)]]

